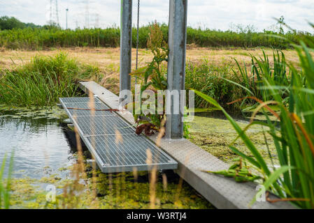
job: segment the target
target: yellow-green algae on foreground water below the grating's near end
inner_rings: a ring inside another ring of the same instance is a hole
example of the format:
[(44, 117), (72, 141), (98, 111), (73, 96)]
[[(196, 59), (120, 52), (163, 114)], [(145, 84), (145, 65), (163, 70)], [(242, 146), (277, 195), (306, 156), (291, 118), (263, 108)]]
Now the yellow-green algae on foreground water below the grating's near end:
[[(79, 183), (69, 178), (62, 179), (56, 174), (39, 180), (13, 179), (10, 203), (12, 208), (150, 208), (149, 174), (142, 171), (137, 175), (136, 180), (132, 173), (112, 174), (110, 180), (109, 174), (98, 173), (96, 198), (92, 196), (92, 178)], [(170, 178), (165, 188), (159, 174), (155, 208), (213, 208), (186, 183), (180, 187), (178, 177), (173, 179), (174, 174), (167, 175)], [(47, 192), (38, 186), (40, 184), (55, 185), (57, 191), (61, 189), (55, 202), (46, 201)], [(74, 187), (75, 194), (71, 194), (69, 188)]]

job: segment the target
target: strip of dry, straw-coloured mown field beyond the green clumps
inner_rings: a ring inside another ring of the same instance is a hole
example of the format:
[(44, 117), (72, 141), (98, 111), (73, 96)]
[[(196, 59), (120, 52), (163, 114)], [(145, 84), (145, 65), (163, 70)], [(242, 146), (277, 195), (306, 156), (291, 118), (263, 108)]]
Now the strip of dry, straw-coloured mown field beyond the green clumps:
[[(273, 50), (264, 49), (269, 58), (272, 58)], [(92, 66), (96, 66), (104, 75), (103, 84), (111, 91), (118, 92), (119, 68), (120, 68), (120, 48), (90, 48), (73, 47), (50, 49), (43, 51), (21, 51), (0, 49), (0, 69), (13, 69), (23, 63), (27, 63), (36, 55), (53, 56), (59, 52), (66, 52), (69, 57), (77, 61)], [(284, 50), (287, 61), (298, 63), (297, 54), (293, 50)], [(209, 63), (217, 66), (224, 64), (235, 65), (234, 59), (243, 64), (243, 61), (249, 66), (250, 55), (262, 56), (262, 49), (211, 49), (187, 46), (187, 61), (196, 62), (207, 59)], [(135, 68), (136, 50), (132, 51), (132, 68)], [(145, 66), (145, 63), (152, 59), (152, 54), (148, 49), (139, 50), (139, 66)]]

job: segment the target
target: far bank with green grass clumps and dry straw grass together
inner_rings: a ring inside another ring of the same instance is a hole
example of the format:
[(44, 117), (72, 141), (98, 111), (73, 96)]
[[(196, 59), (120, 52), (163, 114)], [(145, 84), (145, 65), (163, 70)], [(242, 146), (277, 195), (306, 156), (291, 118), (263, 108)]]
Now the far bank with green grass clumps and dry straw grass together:
[[(6, 56), (5, 52), (4, 57), (8, 57), (8, 62), (3, 61), (5, 66), (1, 71), (0, 94), (2, 97), (0, 103), (15, 106), (53, 105), (59, 97), (76, 95), (78, 92), (76, 83), (80, 79), (92, 79), (110, 91), (118, 93), (118, 52), (118, 49), (108, 49), (104, 52), (95, 51), (94, 53), (80, 53), (74, 50), (73, 52), (69, 51), (68, 55), (56, 51), (45, 52), (41, 56), (33, 53), (36, 56), (32, 59), (29, 59), (29, 56), (32, 55), (31, 52), (16, 52), (18, 57), (12, 57), (12, 53)], [(232, 112), (241, 110), (241, 102), (232, 105), (227, 104), (247, 95), (243, 88), (232, 82), (248, 86), (251, 91), (258, 92), (257, 84), (250, 83), (252, 79), (241, 73), (244, 72), (241, 70), (244, 69), (243, 63), (239, 62), (239, 66), (237, 66), (236, 60), (230, 58), (229, 54), (217, 55), (216, 58), (213, 52), (206, 51), (208, 56), (205, 56), (206, 54), (202, 53), (200, 49), (189, 52), (191, 56), (189, 56), (190, 59), (188, 59), (186, 66), (186, 89), (196, 89), (210, 95), (224, 108)], [(262, 50), (236, 52), (239, 52), (235, 56), (236, 59), (239, 61), (245, 59), (244, 64), (248, 67), (246, 72), (251, 75), (250, 57), (245, 55), (254, 52), (255, 55), (263, 56)], [(201, 53), (201, 57), (194, 56), (197, 53)], [(265, 52), (266, 59), (269, 60), (269, 68), (274, 69), (272, 65), (274, 59), (271, 54), (272, 52), (269, 50)], [(290, 52), (286, 51), (285, 54), (290, 54)], [(101, 60), (103, 55), (104, 59)], [(142, 50), (140, 52), (141, 66), (145, 65), (150, 58), (151, 55)], [(290, 58), (293, 57), (290, 56)], [(85, 63), (92, 65), (87, 66)], [(261, 95), (255, 96), (261, 98)], [(246, 101), (242, 107), (252, 104), (252, 102)], [(211, 105), (197, 95), (195, 107), (207, 108)]]

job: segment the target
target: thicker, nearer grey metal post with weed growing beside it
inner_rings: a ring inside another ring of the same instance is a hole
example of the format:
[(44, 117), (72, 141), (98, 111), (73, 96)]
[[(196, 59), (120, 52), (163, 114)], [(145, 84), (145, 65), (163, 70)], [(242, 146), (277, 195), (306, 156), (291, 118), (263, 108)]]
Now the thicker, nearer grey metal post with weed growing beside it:
[[(169, 62), (168, 90), (176, 90), (181, 98), (185, 89), (185, 53), (187, 38), (187, 0), (170, 0), (169, 10)], [(184, 102), (171, 97), (171, 114), (166, 116), (166, 138), (183, 138)], [(173, 114), (173, 106), (180, 107), (179, 114)]]

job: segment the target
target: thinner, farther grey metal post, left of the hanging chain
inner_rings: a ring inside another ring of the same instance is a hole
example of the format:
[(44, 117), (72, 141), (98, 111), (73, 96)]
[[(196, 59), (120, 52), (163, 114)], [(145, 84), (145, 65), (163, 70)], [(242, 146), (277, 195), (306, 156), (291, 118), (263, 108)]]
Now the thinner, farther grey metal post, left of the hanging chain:
[(120, 91), (131, 90), (132, 1), (121, 0)]

